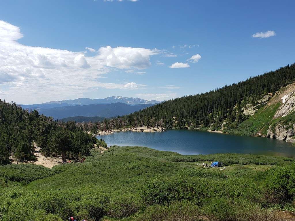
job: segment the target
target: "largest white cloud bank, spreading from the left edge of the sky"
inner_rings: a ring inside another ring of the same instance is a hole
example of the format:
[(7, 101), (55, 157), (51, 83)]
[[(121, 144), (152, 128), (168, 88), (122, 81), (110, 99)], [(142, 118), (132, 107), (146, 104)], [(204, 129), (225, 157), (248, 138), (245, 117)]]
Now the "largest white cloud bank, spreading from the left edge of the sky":
[[(17, 42), (19, 27), (0, 20), (0, 96), (9, 95), (18, 103), (40, 103), (83, 97), (99, 88), (139, 89), (145, 85), (101, 83), (103, 75), (117, 69), (139, 70), (150, 66), (158, 50), (131, 47), (101, 47), (95, 57)], [(90, 50), (90, 48), (86, 48)]]

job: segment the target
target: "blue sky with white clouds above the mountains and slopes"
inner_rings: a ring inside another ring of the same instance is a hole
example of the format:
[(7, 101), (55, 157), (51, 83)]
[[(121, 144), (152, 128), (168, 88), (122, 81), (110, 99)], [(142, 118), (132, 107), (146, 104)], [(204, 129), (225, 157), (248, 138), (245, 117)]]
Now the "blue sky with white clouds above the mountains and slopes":
[(294, 1), (1, 1), (0, 97), (29, 104), (206, 92), (293, 63), (294, 7)]

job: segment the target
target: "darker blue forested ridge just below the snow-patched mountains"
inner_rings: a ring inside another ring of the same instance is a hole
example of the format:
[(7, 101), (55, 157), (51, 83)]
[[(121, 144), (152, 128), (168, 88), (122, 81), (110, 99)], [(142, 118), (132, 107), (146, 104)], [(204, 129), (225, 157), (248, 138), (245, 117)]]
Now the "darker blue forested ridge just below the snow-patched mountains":
[(38, 109), (39, 114), (45, 116), (52, 116), (54, 119), (62, 119), (75, 116), (85, 117), (117, 117), (133, 113), (138, 110), (150, 107), (154, 104), (138, 104), (128, 105), (124, 103), (111, 104), (90, 104), (90, 105), (74, 105), (55, 108), (41, 108)]

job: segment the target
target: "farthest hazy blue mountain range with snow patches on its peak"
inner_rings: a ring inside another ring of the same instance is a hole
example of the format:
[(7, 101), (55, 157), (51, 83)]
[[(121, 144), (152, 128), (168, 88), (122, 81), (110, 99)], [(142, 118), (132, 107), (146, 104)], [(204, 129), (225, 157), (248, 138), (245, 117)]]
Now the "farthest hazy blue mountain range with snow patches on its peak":
[(65, 107), (65, 106), (81, 106), (81, 105), (90, 105), (90, 104), (111, 104), (111, 103), (124, 103), (128, 105), (138, 105), (138, 104), (156, 104), (161, 103), (163, 101), (157, 100), (144, 100), (141, 98), (126, 98), (120, 96), (112, 96), (107, 98), (98, 98), (98, 99), (90, 99), (90, 98), (78, 98), (74, 100), (60, 100), (60, 101), (50, 101), (41, 104), (21, 104), (23, 109), (44, 109), (44, 108), (55, 108), (55, 107)]

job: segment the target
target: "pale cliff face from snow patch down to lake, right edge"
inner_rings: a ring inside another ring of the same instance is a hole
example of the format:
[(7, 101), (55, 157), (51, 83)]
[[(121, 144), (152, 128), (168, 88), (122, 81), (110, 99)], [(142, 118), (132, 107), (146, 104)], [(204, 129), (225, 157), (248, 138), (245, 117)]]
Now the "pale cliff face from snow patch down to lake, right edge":
[(295, 122), (283, 119), (295, 110), (295, 91), (284, 95), (281, 99), (282, 105), (273, 117), (278, 119), (278, 121), (269, 126), (267, 137), (295, 143), (295, 139), (293, 139), (295, 135)]

